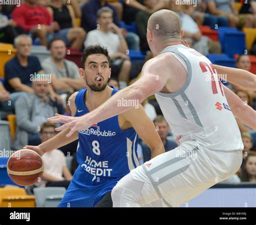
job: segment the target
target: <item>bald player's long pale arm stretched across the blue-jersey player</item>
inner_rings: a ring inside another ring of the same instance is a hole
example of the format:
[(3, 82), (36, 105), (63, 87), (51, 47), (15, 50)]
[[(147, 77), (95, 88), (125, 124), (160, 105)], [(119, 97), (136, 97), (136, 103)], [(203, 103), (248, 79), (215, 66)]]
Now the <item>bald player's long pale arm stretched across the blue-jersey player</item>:
[[(56, 128), (57, 131), (70, 128), (67, 137), (71, 136), (77, 130), (88, 129), (93, 123), (104, 121), (107, 118), (116, 116), (131, 109), (133, 106), (124, 104), (124, 102), (139, 101), (143, 102), (146, 97), (159, 92), (165, 86), (169, 77), (169, 73), (163, 70), (159, 59), (153, 58), (146, 62), (143, 66), (142, 76), (131, 86), (128, 86), (116, 94), (109, 100), (99, 106), (97, 109), (80, 117), (67, 117), (56, 115), (55, 117), (48, 118), (52, 123), (65, 123), (64, 125)], [(166, 64), (166, 62), (163, 62)]]

